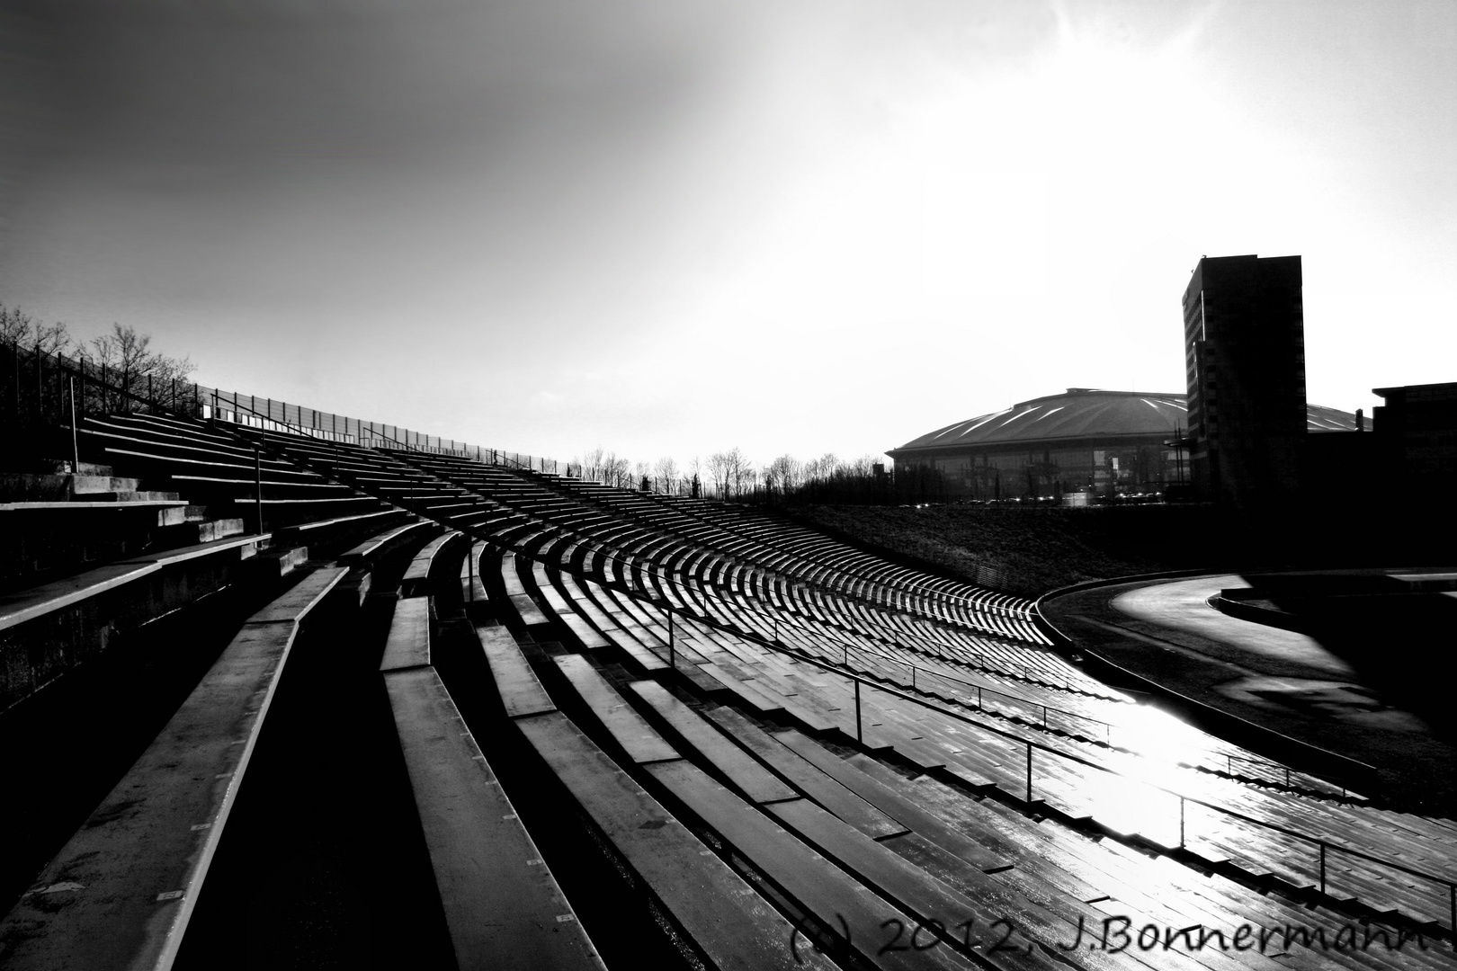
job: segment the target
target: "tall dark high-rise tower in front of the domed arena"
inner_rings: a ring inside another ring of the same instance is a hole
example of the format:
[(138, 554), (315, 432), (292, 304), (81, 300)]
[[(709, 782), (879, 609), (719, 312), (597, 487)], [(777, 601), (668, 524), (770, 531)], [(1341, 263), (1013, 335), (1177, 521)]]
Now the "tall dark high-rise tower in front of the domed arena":
[(1195, 486), (1241, 505), (1291, 498), (1305, 437), (1300, 256), (1205, 256), (1183, 312)]

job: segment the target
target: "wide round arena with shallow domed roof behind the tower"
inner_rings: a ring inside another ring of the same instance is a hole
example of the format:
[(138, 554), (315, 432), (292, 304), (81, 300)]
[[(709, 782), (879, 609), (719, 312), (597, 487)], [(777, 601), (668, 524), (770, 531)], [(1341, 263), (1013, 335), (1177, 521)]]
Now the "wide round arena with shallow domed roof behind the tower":
[[(1305, 428), (1355, 431), (1356, 416), (1307, 405)], [(965, 499), (1163, 494), (1190, 480), (1187, 396), (1069, 387), (937, 428), (887, 454), (899, 473), (940, 473), (944, 492)]]

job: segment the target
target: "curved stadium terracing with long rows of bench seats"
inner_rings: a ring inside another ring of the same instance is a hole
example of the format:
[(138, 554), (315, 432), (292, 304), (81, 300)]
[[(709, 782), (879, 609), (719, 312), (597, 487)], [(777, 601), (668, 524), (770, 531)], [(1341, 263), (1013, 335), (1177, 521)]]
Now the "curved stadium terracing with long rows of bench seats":
[(1027, 600), (191, 400), (83, 409), (64, 498), (3, 507), (6, 968), (1454, 965), (1451, 821), (1138, 703)]

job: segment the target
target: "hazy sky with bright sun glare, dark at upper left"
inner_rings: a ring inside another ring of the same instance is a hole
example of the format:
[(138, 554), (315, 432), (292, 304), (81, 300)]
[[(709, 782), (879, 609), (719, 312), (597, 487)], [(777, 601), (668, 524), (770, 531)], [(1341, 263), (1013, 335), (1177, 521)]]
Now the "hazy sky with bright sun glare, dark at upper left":
[(242, 393), (860, 456), (1185, 390), (1237, 253), (1304, 258), (1311, 402), (1457, 380), (1451, 0), (77, 0), (0, 45), (0, 303)]

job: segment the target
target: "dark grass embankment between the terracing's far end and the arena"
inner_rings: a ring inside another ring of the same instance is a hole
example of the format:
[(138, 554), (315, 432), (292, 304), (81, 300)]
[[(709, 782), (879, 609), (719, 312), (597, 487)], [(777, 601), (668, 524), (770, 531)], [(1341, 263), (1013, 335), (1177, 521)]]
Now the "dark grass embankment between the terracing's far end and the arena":
[(908, 566), (1021, 597), (1087, 579), (1218, 568), (1243, 530), (1208, 507), (807, 505), (791, 518)]

